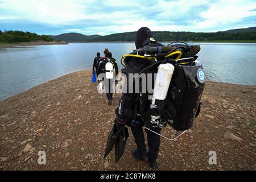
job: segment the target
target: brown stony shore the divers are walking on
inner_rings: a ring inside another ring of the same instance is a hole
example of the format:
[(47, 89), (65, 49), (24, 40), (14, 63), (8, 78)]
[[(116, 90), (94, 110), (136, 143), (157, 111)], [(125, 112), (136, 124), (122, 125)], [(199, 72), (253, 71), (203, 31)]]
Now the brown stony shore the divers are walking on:
[[(255, 92), (256, 86), (208, 81), (192, 129), (174, 142), (161, 138), (159, 169), (256, 170)], [(81, 71), (1, 101), (0, 170), (149, 170), (131, 157), (131, 132), (117, 164), (114, 152), (103, 159), (119, 97), (108, 106), (91, 72)], [(175, 132), (166, 127), (162, 134)], [(39, 151), (46, 165), (38, 164)], [(209, 151), (216, 151), (216, 165), (208, 163)]]

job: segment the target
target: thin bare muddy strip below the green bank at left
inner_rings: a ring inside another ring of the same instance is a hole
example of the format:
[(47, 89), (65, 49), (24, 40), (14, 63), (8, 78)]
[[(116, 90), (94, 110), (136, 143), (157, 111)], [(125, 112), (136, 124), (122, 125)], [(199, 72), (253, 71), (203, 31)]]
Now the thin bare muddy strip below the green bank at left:
[(43, 46), (43, 45), (63, 45), (68, 44), (66, 42), (44, 42), (44, 41), (38, 41), (38, 42), (27, 42), (27, 43), (13, 43), (13, 44), (0, 44), (0, 48), (15, 48), (15, 47), (24, 47), (24, 46)]

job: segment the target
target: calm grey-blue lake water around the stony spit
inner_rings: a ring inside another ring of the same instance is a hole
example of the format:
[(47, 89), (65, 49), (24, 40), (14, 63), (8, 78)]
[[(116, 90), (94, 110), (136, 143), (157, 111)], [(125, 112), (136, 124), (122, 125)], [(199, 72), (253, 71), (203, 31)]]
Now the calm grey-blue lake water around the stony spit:
[[(195, 44), (195, 43), (193, 43)], [(208, 80), (256, 85), (256, 43), (199, 43), (199, 61)], [(119, 59), (134, 43), (71, 43), (0, 49), (0, 100), (43, 82), (83, 69), (92, 69), (96, 52), (109, 48)]]

